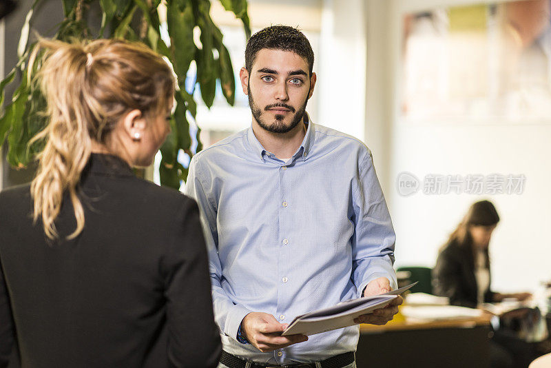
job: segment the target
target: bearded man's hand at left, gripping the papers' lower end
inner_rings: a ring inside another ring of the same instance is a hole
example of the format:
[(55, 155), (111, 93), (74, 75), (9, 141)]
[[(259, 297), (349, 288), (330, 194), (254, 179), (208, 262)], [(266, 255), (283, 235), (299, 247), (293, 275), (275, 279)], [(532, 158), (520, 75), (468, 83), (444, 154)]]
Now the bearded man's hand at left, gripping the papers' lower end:
[(258, 350), (266, 352), (308, 340), (306, 335), (281, 336), (287, 329), (287, 323), (279, 323), (269, 313), (251, 312), (243, 318), (241, 331)]

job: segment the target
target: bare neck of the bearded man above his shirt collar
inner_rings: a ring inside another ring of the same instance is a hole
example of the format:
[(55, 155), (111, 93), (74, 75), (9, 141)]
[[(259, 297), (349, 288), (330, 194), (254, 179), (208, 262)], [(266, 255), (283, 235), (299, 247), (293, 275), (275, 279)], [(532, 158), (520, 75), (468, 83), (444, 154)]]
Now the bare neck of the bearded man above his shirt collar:
[(302, 119), (293, 130), (287, 133), (273, 133), (264, 130), (253, 118), (253, 133), (264, 150), (275, 154), (278, 159), (287, 159), (297, 152), (300, 143), (304, 140), (306, 125)]

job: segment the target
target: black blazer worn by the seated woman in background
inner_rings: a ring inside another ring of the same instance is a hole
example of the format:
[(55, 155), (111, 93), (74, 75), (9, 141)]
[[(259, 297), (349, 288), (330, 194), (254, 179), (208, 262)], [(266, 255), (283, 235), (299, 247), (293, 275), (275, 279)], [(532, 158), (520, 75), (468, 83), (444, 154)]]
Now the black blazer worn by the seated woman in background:
[[(450, 304), (474, 308), (477, 306), (478, 284), (475, 260), (470, 249), (449, 243), (442, 249), (433, 269), (433, 292), (450, 298)], [(490, 289), (484, 301), (491, 302)]]

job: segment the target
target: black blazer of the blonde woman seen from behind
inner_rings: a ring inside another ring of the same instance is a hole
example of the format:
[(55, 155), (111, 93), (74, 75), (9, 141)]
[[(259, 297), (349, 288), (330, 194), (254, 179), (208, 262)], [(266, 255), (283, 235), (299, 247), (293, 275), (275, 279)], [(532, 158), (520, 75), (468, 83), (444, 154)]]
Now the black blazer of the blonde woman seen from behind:
[[(216, 367), (196, 203), (101, 154), (80, 197), (83, 232), (48, 244), (29, 185), (0, 193), (0, 367), (13, 347), (22, 367)], [(61, 237), (75, 225), (65, 196)]]

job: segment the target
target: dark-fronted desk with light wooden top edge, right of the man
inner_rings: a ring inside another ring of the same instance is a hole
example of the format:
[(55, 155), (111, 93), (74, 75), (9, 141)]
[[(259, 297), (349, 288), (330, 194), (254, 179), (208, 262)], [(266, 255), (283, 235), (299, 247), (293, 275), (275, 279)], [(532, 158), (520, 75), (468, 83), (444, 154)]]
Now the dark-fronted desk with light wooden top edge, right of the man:
[(488, 368), (488, 316), (361, 325), (357, 368)]

